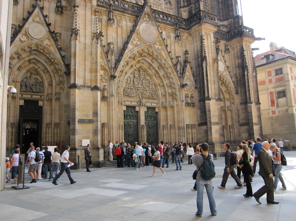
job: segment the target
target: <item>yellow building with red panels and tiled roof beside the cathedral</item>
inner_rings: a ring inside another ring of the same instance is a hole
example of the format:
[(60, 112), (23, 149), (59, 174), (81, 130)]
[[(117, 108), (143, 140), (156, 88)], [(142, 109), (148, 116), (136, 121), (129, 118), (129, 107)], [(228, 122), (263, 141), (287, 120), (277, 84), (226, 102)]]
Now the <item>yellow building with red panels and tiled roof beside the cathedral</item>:
[(296, 146), (296, 54), (270, 43), (270, 51), (255, 58), (261, 103), (262, 131), (268, 140)]

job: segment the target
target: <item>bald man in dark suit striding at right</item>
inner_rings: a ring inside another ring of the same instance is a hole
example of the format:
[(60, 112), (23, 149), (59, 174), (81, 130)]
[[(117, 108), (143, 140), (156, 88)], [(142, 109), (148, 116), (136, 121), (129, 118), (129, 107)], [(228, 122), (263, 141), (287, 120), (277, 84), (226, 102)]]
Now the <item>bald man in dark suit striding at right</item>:
[(256, 201), (260, 203), (259, 198), (266, 193), (266, 202), (268, 204), (279, 204), (279, 202), (274, 201), (273, 194), (273, 171), (272, 171), (272, 159), (267, 153), (270, 149), (270, 144), (268, 141), (262, 143), (262, 148), (258, 153), (259, 160), (259, 175), (264, 180), (264, 186), (257, 190), (253, 194)]

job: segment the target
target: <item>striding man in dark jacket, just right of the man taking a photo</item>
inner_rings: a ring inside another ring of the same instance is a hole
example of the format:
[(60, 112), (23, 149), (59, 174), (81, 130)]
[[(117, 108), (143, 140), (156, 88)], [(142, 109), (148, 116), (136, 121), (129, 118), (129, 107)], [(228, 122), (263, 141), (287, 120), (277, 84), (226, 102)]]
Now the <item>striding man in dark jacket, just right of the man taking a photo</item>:
[(238, 176), (235, 174), (234, 171), (234, 165), (237, 164), (237, 162), (233, 162), (233, 160), (231, 160), (231, 158), (233, 157), (233, 153), (229, 150), (230, 145), (229, 143), (224, 143), (223, 144), (223, 149), (225, 151), (225, 168), (224, 168), (224, 173), (222, 176), (222, 182), (221, 185), (218, 186), (219, 189), (225, 189), (227, 180), (229, 175), (231, 175), (231, 177), (235, 180), (237, 186), (235, 187), (235, 189), (241, 189), (243, 188), (243, 184), (240, 181), (240, 179), (238, 178)]

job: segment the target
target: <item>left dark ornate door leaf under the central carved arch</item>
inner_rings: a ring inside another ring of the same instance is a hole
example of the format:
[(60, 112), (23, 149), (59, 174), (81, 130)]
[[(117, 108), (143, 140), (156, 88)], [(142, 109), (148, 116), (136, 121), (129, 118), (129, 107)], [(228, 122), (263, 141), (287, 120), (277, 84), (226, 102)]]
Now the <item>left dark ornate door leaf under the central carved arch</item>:
[(138, 112), (136, 107), (126, 107), (124, 111), (124, 140), (131, 145), (139, 142)]

